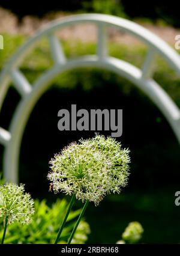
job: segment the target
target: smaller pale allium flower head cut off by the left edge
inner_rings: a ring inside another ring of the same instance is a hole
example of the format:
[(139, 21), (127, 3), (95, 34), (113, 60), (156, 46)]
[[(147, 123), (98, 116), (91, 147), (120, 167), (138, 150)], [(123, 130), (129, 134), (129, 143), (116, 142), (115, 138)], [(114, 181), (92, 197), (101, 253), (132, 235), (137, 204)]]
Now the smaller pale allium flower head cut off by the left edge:
[(0, 186), (0, 218), (8, 218), (8, 224), (29, 224), (34, 214), (34, 201), (25, 193), (23, 184), (5, 183)]

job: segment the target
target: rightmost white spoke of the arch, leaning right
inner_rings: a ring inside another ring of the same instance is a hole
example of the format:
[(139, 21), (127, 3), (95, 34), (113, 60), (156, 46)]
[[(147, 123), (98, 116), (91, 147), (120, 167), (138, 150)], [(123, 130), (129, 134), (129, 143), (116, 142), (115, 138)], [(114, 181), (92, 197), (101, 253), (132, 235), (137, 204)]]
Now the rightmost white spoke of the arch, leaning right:
[(147, 79), (151, 78), (154, 71), (154, 56), (155, 50), (150, 48), (143, 63), (142, 67), (142, 77)]

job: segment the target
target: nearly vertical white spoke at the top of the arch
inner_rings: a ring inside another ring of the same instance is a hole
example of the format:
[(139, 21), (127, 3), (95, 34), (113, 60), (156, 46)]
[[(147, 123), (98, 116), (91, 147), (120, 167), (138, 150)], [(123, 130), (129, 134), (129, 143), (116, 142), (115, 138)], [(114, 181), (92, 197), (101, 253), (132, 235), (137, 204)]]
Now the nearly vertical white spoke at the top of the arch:
[(99, 58), (106, 58), (107, 56), (106, 26), (101, 23), (97, 24), (97, 55)]

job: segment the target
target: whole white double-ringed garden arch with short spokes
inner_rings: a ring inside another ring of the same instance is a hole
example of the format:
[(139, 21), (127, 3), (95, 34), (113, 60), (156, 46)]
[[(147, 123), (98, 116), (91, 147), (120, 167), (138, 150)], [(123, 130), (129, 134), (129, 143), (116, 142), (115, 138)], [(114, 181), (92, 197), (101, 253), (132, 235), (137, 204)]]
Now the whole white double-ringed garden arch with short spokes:
[[(61, 44), (55, 36), (58, 29), (77, 23), (92, 22), (97, 26), (97, 55), (88, 55), (76, 59), (67, 59)], [(131, 65), (121, 59), (112, 58), (108, 55), (106, 47), (108, 27), (115, 27), (128, 32), (142, 40), (149, 46), (149, 52), (145, 57), (142, 69)], [(42, 38), (49, 38), (50, 50), (54, 66), (43, 73), (33, 86), (29, 84), (25, 76), (20, 72), (19, 66), (29, 50)], [(167, 43), (149, 32), (142, 26), (129, 20), (104, 14), (80, 14), (69, 16), (62, 20), (51, 22), (45, 29), (41, 29), (31, 37), (11, 57), (0, 75), (0, 108), (7, 93), (10, 81), (22, 96), (19, 105), (11, 120), (9, 130), (0, 127), (0, 143), (4, 145), (4, 177), (7, 181), (18, 181), (19, 150), (26, 122), (35, 103), (50, 86), (50, 82), (59, 73), (77, 67), (100, 67), (111, 70), (118, 75), (127, 78), (137, 87), (144, 91), (158, 106), (169, 121), (180, 143), (180, 111), (167, 93), (152, 79), (152, 64), (154, 55), (161, 55), (173, 70), (180, 76), (180, 57)]]

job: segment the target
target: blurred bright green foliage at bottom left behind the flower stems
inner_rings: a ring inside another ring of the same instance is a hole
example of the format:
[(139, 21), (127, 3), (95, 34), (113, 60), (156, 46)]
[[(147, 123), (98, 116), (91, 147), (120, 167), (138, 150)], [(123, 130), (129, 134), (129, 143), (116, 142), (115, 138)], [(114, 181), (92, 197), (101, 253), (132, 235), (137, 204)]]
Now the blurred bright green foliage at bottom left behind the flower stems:
[[(35, 214), (31, 224), (28, 226), (17, 223), (8, 225), (5, 243), (54, 243), (59, 230), (59, 222), (63, 219), (66, 209), (67, 201), (65, 200), (57, 200), (52, 207), (49, 207), (45, 200), (41, 202), (35, 200)], [(79, 213), (80, 210), (71, 211), (59, 243), (66, 243), (74, 226), (74, 218)], [(0, 230), (0, 237), (2, 237), (2, 223)], [(88, 223), (81, 221), (74, 235), (73, 243), (85, 243), (89, 233)]]

